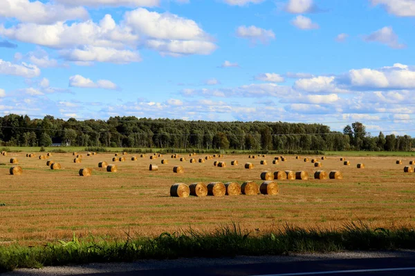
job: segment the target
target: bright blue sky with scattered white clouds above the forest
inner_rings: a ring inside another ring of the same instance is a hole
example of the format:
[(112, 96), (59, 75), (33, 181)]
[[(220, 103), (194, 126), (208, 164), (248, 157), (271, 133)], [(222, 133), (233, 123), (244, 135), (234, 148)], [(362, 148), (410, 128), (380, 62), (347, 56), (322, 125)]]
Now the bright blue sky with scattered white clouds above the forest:
[(415, 0), (0, 0), (0, 116), (415, 136)]

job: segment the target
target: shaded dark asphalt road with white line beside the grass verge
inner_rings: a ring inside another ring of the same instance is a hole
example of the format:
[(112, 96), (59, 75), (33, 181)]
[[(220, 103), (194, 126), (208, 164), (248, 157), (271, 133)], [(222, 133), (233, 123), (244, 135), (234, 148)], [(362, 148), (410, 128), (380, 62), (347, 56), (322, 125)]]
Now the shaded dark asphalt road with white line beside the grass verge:
[[(184, 261), (184, 262), (183, 262)], [(91, 264), (42, 270), (16, 270), (6, 275), (96, 275), (96, 276), (389, 276), (415, 275), (415, 252), (334, 253), (299, 256), (239, 256), (232, 259), (178, 259), (130, 264)]]

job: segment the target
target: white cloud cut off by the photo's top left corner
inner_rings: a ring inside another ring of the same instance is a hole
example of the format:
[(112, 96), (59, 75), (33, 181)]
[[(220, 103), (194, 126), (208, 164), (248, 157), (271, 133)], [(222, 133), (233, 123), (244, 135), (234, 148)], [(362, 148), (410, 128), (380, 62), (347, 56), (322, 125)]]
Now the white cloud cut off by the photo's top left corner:
[(1, 0), (0, 16), (15, 18), (21, 22), (49, 24), (70, 19), (86, 19), (89, 14), (82, 7), (66, 8), (29, 0)]

